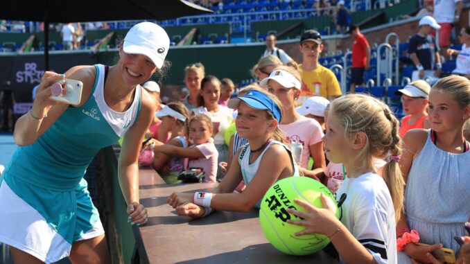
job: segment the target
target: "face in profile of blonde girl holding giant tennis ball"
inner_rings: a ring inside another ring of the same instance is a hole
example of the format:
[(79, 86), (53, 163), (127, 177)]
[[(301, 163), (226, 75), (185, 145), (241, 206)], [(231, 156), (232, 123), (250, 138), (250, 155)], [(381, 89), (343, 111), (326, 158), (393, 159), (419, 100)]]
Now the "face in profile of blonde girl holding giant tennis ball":
[(327, 132), (323, 140), (325, 155), (333, 163), (344, 163), (354, 157), (351, 142), (345, 137), (345, 127), (342, 127), (338, 118), (332, 114), (327, 121)]

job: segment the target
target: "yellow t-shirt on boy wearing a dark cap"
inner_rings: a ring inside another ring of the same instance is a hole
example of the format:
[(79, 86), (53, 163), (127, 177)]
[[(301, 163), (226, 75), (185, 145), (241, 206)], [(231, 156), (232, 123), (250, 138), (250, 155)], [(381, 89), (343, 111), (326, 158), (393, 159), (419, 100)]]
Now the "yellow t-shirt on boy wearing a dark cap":
[(299, 71), (302, 76), (302, 97), (323, 96), (329, 98), (341, 95), (340, 84), (333, 71), (320, 64), (313, 71), (304, 70), (300, 64)]

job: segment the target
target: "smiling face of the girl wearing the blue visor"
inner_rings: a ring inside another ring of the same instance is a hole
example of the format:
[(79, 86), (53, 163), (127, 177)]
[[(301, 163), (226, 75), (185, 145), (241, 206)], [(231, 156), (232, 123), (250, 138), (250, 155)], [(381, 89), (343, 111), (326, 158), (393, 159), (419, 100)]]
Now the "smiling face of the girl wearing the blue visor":
[(261, 137), (269, 132), (271, 122), (266, 118), (266, 110), (254, 109), (243, 102), (238, 105), (235, 125), (240, 137), (245, 139)]

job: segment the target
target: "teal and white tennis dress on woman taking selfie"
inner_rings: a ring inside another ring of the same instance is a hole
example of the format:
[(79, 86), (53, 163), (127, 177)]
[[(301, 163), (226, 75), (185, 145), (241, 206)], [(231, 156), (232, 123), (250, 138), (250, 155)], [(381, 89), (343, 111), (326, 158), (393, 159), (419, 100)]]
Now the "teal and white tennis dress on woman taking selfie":
[(131, 107), (116, 112), (104, 99), (107, 67), (95, 68), (87, 102), (68, 107), (35, 143), (17, 148), (0, 179), (0, 242), (45, 263), (69, 256), (75, 241), (104, 234), (83, 175), (139, 116), (141, 87)]

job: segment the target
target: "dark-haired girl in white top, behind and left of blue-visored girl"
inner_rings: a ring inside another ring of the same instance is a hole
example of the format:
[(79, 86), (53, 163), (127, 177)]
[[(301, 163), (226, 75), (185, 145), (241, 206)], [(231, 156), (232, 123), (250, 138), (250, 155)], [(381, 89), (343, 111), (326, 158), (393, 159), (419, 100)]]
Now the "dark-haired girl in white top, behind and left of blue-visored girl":
[[(218, 151), (218, 162), (227, 162), (228, 146), (224, 141), (224, 134), (234, 118), (232, 110), (218, 104), (220, 99), (220, 80), (216, 76), (208, 75), (202, 79), (198, 108), (192, 109), (194, 114), (205, 114), (211, 118), (214, 127), (214, 144)], [(224, 175), (221, 171), (217, 173), (217, 178)]]

